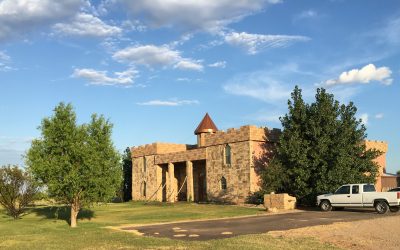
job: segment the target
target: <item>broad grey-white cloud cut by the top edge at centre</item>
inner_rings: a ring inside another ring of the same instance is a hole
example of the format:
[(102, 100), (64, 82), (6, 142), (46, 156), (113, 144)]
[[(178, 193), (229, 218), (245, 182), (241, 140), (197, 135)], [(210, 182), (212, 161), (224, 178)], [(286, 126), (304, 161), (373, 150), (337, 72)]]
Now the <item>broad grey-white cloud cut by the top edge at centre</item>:
[(281, 0), (122, 0), (134, 15), (156, 27), (218, 30)]

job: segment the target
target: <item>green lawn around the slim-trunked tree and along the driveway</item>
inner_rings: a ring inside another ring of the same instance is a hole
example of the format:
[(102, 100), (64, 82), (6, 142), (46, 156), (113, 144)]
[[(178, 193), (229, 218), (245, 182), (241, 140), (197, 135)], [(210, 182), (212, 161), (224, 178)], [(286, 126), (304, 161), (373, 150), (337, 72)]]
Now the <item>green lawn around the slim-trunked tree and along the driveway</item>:
[(190, 219), (221, 218), (263, 213), (259, 209), (191, 203), (128, 202), (95, 206), (80, 213), (78, 228), (67, 224), (63, 207), (35, 207), (14, 221), (0, 210), (0, 249), (333, 249), (313, 239), (273, 238), (266, 234), (223, 240), (179, 241), (141, 237), (104, 228)]

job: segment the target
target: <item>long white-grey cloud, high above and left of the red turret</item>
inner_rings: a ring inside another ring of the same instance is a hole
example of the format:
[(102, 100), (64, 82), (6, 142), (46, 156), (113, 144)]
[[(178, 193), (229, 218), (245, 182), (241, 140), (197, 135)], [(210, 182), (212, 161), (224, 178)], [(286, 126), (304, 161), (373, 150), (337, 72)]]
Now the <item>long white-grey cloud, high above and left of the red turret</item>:
[(177, 50), (168, 46), (133, 46), (114, 53), (113, 58), (119, 62), (135, 63), (145, 66), (172, 66), (177, 69), (203, 70), (199, 61), (184, 58)]

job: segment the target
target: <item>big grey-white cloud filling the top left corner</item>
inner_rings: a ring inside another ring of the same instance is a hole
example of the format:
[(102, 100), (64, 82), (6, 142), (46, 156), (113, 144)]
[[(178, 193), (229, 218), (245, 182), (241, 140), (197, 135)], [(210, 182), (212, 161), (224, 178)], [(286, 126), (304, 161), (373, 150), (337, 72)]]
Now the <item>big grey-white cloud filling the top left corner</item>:
[(74, 16), (82, 0), (0, 1), (0, 41)]

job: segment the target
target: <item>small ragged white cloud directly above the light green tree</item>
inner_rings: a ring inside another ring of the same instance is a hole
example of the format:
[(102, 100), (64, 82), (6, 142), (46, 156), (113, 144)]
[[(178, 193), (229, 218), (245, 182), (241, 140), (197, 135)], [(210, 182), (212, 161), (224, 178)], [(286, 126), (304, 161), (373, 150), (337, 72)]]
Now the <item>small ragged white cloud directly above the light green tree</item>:
[(137, 77), (138, 71), (128, 69), (122, 72), (115, 72), (114, 76), (107, 76), (107, 71), (98, 71), (94, 69), (75, 69), (72, 77), (83, 78), (92, 85), (118, 85), (130, 86)]

